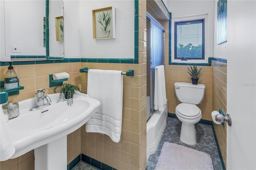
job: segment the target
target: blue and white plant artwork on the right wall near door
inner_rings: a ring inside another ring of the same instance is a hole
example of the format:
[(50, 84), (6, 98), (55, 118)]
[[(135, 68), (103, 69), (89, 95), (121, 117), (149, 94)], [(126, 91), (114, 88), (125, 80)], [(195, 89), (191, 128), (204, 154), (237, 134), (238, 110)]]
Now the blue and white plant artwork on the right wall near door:
[(217, 44), (227, 41), (227, 0), (218, 0)]

